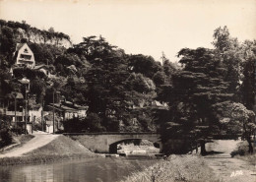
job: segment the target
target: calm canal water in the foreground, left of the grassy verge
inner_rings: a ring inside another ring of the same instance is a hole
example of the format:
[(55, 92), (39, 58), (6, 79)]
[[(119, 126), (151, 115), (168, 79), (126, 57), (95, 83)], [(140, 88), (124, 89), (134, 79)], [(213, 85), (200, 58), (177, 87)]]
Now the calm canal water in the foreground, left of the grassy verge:
[(87, 158), (0, 167), (1, 182), (114, 182), (156, 163), (156, 159)]

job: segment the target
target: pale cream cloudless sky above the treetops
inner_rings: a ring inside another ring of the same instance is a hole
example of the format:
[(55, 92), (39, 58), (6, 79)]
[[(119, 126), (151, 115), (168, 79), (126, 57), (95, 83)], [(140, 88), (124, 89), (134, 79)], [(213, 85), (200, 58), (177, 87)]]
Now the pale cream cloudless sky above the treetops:
[(227, 26), (239, 41), (256, 39), (256, 0), (0, 0), (0, 19), (82, 37), (102, 35), (126, 53), (177, 60), (181, 48), (212, 48)]

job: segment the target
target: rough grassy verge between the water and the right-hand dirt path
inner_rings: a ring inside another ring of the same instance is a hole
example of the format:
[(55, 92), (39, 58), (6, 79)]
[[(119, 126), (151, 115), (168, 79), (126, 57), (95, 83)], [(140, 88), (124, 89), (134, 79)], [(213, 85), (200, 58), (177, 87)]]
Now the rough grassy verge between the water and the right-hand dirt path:
[(170, 155), (166, 160), (136, 172), (121, 182), (220, 182), (212, 169), (197, 155)]

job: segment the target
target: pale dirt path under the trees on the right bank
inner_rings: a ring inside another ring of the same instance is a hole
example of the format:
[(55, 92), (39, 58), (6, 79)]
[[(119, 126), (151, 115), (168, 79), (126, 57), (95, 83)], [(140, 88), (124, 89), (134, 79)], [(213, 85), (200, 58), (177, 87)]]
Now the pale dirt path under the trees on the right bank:
[(239, 142), (219, 140), (209, 143), (206, 145), (207, 152), (215, 153), (204, 156), (204, 159), (224, 182), (255, 182), (256, 166), (230, 155)]

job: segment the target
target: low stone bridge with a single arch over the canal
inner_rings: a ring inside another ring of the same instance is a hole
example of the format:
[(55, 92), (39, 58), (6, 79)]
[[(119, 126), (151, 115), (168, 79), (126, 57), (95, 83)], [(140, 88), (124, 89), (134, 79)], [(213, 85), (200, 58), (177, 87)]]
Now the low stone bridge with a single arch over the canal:
[(160, 134), (158, 133), (65, 133), (75, 141), (93, 152), (117, 152), (117, 145), (131, 140), (148, 140), (161, 151)]

